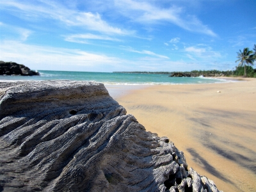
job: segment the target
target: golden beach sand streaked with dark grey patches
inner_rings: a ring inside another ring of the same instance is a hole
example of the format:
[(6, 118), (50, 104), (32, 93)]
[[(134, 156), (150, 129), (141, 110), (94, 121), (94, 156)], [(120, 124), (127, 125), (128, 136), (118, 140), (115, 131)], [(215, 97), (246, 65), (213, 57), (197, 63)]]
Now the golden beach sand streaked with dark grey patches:
[(148, 86), (116, 100), (218, 189), (256, 191), (256, 79), (245, 80)]

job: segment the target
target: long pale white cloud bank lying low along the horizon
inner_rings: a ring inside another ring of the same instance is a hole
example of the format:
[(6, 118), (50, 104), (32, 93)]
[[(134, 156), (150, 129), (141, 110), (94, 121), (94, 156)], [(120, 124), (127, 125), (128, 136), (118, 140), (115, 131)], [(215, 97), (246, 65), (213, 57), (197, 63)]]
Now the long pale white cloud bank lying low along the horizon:
[[(88, 72), (147, 70), (171, 72), (199, 70), (202, 69), (202, 65), (205, 65), (205, 63), (209, 67), (223, 68), (223, 62), (198, 61), (198, 58), (194, 58), (193, 52), (187, 55), (191, 60), (194, 60), (193, 62), (182, 60), (170, 61), (166, 60), (165, 56), (156, 58), (146, 56), (134, 61), (122, 60), (120, 58), (81, 51), (79, 49), (29, 45), (17, 41), (1, 41), (0, 44), (0, 60), (15, 61), (34, 70), (77, 70)], [(154, 52), (150, 51), (139, 51), (139, 53), (155, 55)]]

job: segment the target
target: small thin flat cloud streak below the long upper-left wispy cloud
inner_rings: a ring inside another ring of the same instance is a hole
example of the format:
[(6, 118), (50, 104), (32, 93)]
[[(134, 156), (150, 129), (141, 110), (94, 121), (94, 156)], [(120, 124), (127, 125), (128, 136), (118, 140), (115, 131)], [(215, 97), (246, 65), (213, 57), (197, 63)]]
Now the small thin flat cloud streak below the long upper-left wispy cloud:
[(67, 42), (75, 42), (79, 44), (88, 44), (86, 40), (109, 40), (109, 41), (118, 41), (117, 38), (111, 38), (109, 36), (104, 36), (104, 35), (93, 35), (91, 33), (86, 33), (86, 34), (74, 34), (74, 35), (67, 35), (65, 36), (65, 41)]

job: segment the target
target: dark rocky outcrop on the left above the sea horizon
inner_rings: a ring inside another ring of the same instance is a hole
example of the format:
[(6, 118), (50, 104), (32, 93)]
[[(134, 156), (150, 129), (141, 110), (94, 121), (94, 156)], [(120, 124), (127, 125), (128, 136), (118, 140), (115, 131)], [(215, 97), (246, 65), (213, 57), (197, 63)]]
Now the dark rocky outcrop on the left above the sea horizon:
[(0, 75), (39, 76), (40, 74), (22, 64), (0, 61)]

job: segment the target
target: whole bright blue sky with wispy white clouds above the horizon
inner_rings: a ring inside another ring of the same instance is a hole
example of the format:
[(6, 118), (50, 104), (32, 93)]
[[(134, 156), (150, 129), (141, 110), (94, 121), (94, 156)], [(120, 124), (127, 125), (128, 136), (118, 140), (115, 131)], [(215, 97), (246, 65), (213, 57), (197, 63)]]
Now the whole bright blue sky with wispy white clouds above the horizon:
[[(0, 0), (0, 60), (33, 70), (233, 70), (255, 0)], [(254, 66), (255, 67), (255, 66)]]

